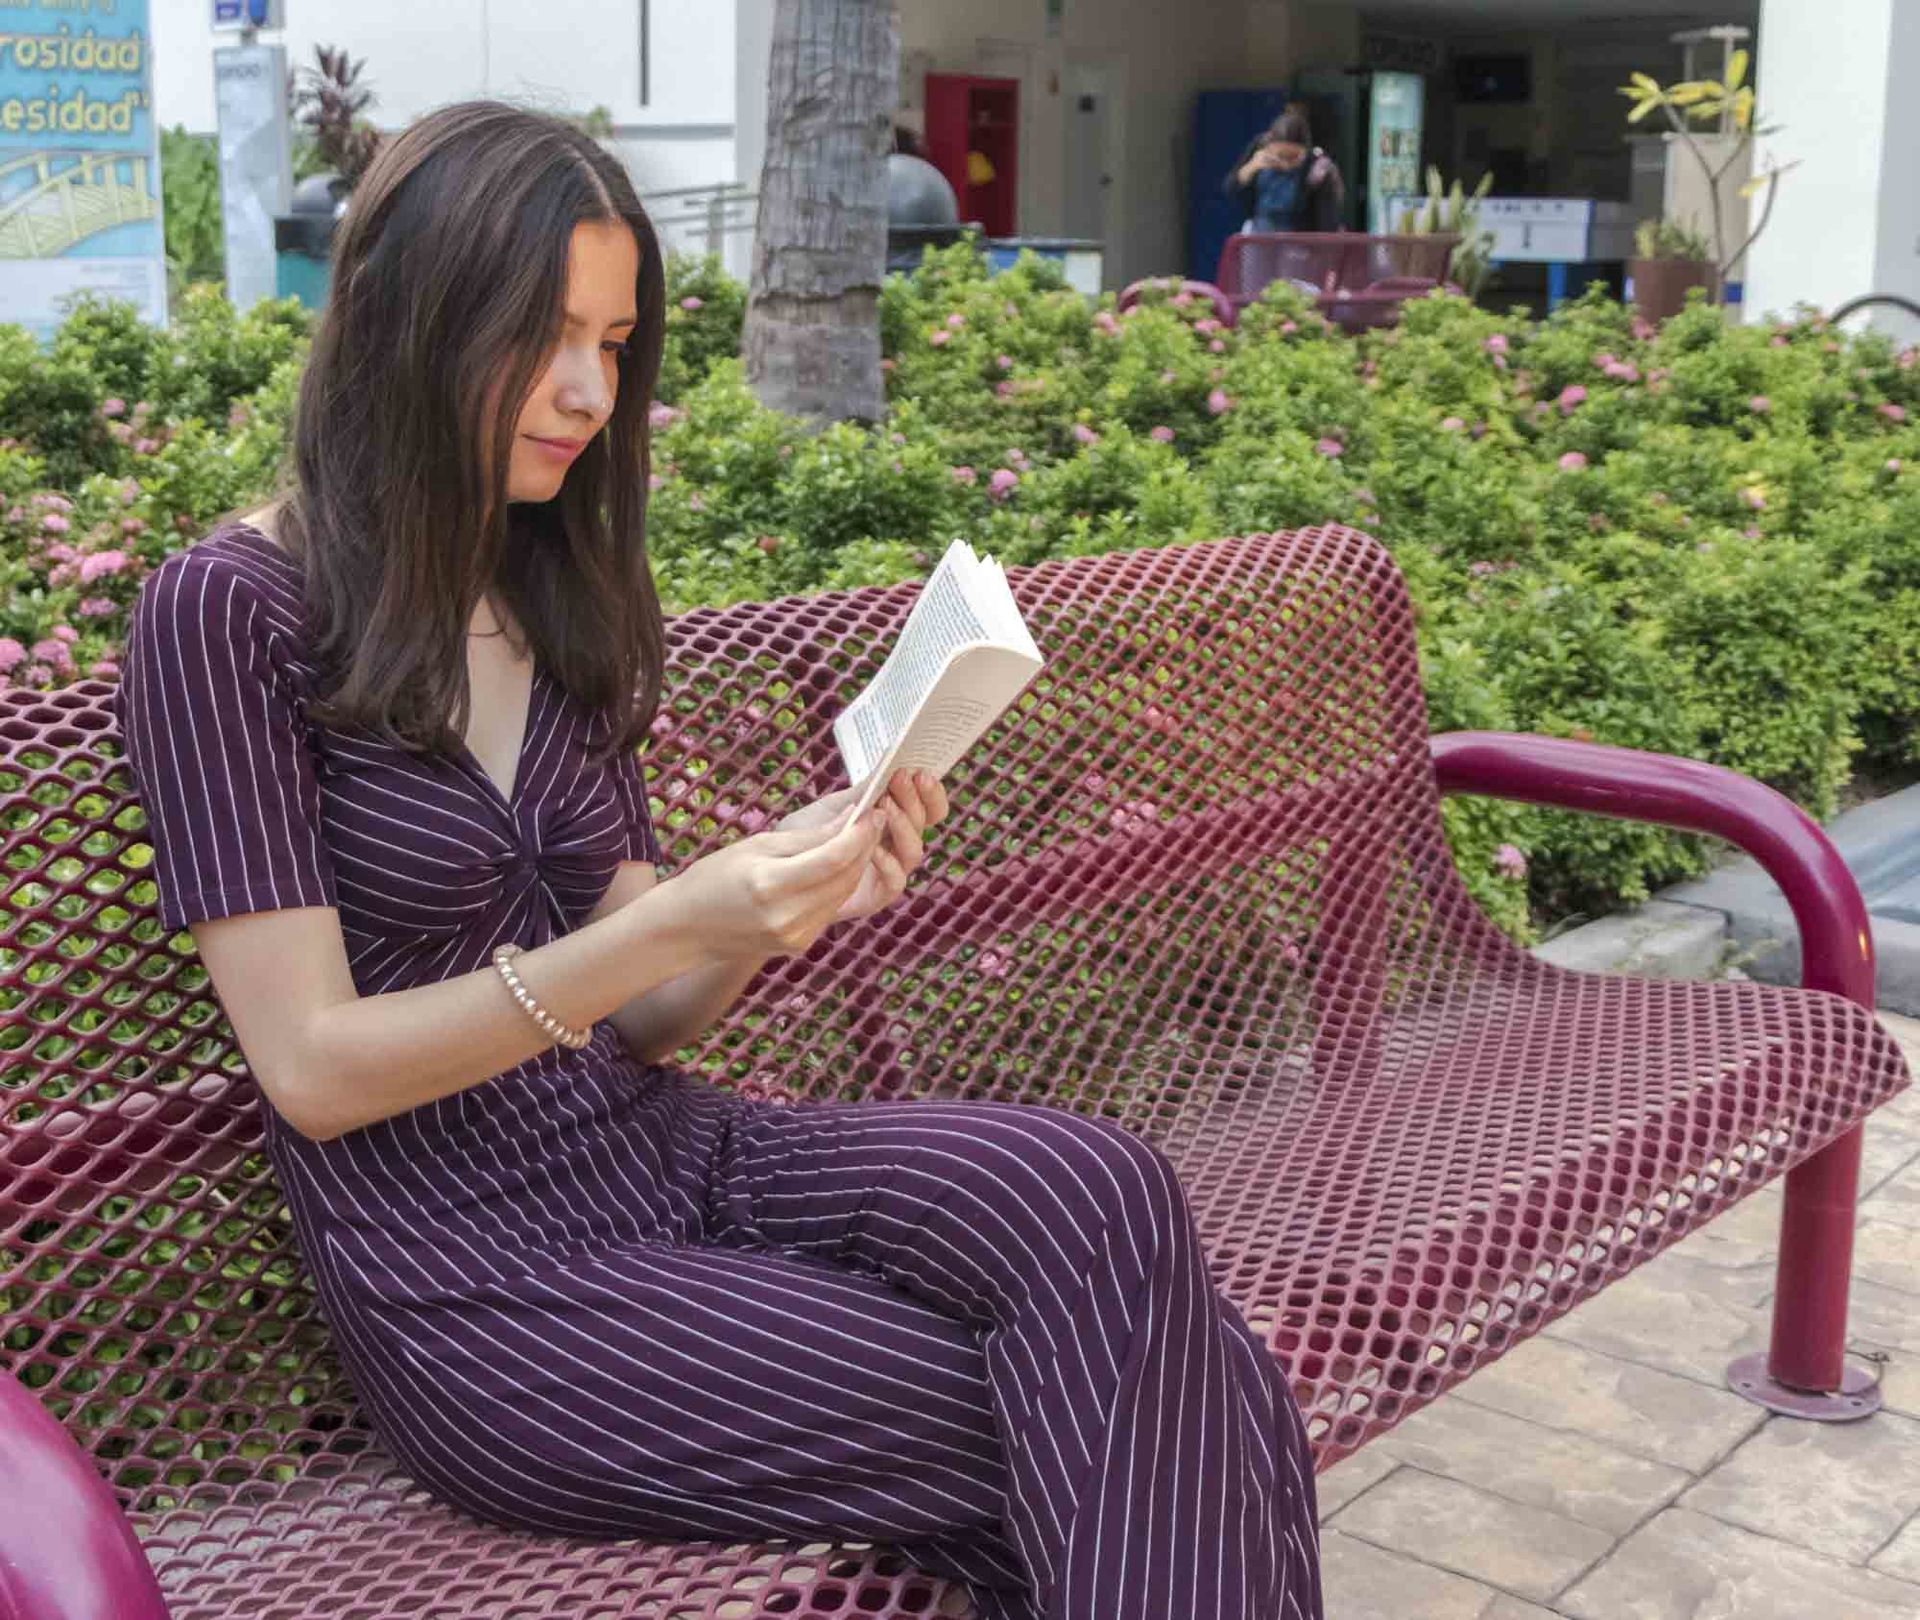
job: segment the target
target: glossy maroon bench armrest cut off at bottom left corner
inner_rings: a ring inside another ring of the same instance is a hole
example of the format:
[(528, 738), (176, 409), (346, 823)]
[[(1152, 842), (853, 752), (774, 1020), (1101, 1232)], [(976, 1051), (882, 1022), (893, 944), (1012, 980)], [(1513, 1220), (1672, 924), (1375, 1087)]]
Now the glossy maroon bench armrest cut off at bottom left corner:
[(113, 1491), (67, 1432), (0, 1372), (0, 1614), (167, 1620)]

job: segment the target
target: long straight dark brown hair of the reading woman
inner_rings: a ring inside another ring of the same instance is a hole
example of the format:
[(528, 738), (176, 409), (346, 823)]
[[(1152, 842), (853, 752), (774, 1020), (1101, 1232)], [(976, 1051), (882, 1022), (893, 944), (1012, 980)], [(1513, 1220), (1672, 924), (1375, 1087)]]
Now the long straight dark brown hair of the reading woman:
[[(551, 501), (509, 505), (520, 407), (564, 324), (572, 228), (597, 221), (639, 244), (614, 413)], [(645, 545), (664, 326), (653, 225), (589, 136), (461, 102), (380, 146), (334, 240), (276, 514), (305, 570), (315, 718), (453, 747), (467, 630), (495, 591), (540, 664), (609, 716), (609, 752), (639, 745), (666, 656)]]

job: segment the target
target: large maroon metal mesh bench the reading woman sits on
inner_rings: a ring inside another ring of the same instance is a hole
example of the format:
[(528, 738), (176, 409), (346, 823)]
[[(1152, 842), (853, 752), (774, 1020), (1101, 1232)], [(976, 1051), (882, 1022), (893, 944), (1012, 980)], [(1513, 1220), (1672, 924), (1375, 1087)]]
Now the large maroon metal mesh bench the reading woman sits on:
[[(1010, 574), (1050, 666), (958, 770), (908, 898), (762, 973), (689, 1063), (1152, 1138), (1323, 1465), (1782, 1173), (1778, 1382), (1738, 1376), (1872, 1409), (1841, 1365), (1853, 1192), (1907, 1073), (1805, 816), (1709, 766), (1430, 747), (1405, 587), (1346, 530)], [(835, 783), (828, 720), (914, 595), (674, 622), (651, 764), (678, 858)], [(501, 1534), (399, 1472), (328, 1353), (205, 975), (154, 917), (108, 697), (0, 695), (0, 1605), (156, 1620), (150, 1560), (175, 1620), (958, 1612), (883, 1547)], [(1461, 887), (1442, 791), (1745, 845), (1812, 992), (1540, 964)]]

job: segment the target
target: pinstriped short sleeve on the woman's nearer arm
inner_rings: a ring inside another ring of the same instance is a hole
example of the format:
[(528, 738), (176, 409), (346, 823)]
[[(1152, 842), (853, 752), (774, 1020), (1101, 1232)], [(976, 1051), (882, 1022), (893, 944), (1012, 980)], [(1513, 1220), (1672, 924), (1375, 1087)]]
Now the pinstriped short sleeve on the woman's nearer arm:
[(300, 706), (238, 570), (186, 551), (146, 580), (115, 703), (161, 923), (336, 904)]

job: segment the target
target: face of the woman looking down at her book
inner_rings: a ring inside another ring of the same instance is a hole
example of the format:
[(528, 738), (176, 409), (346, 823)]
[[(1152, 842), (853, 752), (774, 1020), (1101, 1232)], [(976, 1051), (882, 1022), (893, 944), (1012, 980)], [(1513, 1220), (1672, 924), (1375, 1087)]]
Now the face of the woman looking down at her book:
[(620, 349), (639, 321), (639, 244), (618, 221), (576, 225), (566, 255), (566, 330), (515, 424), (509, 501), (551, 501), (566, 468), (612, 417)]

